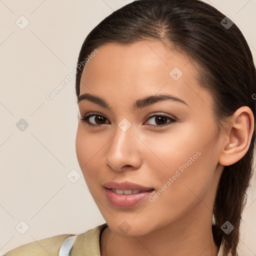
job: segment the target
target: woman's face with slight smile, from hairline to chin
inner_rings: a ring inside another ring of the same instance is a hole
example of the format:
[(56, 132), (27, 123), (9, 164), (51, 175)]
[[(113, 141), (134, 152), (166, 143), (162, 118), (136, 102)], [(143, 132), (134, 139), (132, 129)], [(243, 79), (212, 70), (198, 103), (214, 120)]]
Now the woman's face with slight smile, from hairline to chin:
[[(80, 95), (100, 97), (109, 108), (92, 98), (79, 101), (79, 118), (90, 117), (78, 121), (76, 154), (114, 232), (126, 227), (126, 235), (143, 235), (195, 209), (212, 214), (220, 136), (212, 96), (195, 75), (189, 59), (159, 41), (108, 43), (85, 65)], [(141, 102), (159, 95), (173, 98)], [(153, 190), (117, 195), (104, 187), (109, 181)]]

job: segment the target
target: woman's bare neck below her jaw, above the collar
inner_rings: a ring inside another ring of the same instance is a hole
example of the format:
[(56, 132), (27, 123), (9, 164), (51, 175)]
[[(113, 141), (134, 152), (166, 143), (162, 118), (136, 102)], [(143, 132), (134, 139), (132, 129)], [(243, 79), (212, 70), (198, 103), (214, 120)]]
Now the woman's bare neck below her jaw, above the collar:
[[(205, 205), (200, 203), (200, 211)], [(201, 211), (202, 212), (202, 211)], [(191, 212), (190, 212), (191, 213)], [(105, 228), (100, 238), (101, 256), (217, 256), (218, 247), (211, 231), (211, 212), (189, 214), (153, 232), (140, 236), (124, 236)], [(199, 216), (199, 217), (198, 217)], [(209, 224), (205, 224), (209, 223)]]

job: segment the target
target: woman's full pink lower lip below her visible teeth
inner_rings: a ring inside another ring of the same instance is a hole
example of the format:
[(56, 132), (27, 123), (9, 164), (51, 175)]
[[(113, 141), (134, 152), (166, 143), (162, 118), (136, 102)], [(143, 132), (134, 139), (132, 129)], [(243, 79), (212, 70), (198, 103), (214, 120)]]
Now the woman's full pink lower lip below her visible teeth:
[(111, 189), (104, 187), (105, 194), (108, 201), (115, 207), (118, 208), (129, 208), (132, 207), (142, 200), (145, 200), (153, 193), (154, 190), (139, 192), (136, 194), (117, 194)]

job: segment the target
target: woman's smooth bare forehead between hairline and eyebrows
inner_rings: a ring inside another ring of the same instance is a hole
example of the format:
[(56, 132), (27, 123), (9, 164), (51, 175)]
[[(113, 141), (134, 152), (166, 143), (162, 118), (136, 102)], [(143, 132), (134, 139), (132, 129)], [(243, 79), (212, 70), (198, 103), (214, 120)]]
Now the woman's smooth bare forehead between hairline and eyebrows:
[(198, 85), (194, 64), (160, 41), (107, 43), (97, 49), (83, 69), (80, 94), (89, 92), (106, 98), (111, 91), (109, 100), (117, 97), (124, 102), (130, 98), (133, 102), (147, 95), (171, 93), (189, 105), (196, 100), (200, 107), (212, 100)]

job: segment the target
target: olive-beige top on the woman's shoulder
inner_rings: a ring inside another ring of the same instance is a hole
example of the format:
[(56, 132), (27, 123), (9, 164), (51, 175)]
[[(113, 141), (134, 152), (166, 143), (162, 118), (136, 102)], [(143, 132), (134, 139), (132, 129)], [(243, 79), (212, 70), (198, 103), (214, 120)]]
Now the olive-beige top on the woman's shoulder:
[[(100, 256), (100, 235), (108, 227), (106, 223), (98, 225), (84, 233), (78, 234), (70, 250), (70, 256)], [(75, 234), (59, 234), (52, 237), (40, 239), (38, 241), (26, 243), (18, 246), (3, 256), (58, 256), (59, 249), (63, 241)], [(223, 243), (221, 242), (218, 255), (227, 256), (223, 253)]]

